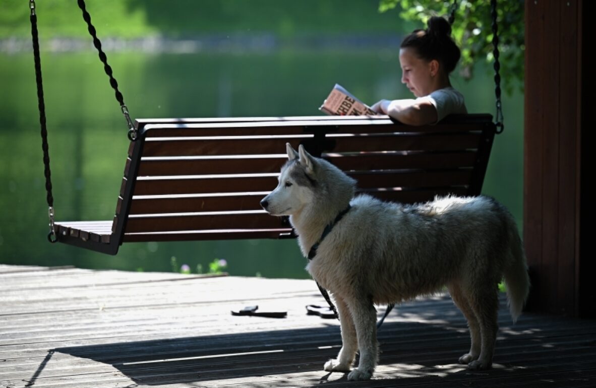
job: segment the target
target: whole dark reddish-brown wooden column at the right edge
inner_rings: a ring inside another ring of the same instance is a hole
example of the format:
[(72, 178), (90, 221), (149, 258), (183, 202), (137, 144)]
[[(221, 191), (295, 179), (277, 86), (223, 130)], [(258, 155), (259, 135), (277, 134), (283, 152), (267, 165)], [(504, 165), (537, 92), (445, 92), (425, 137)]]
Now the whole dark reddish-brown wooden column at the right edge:
[(523, 234), (532, 279), (527, 309), (569, 316), (594, 313), (585, 305), (593, 296), (581, 284), (582, 271), (594, 264), (580, 254), (585, 4), (525, 4)]

